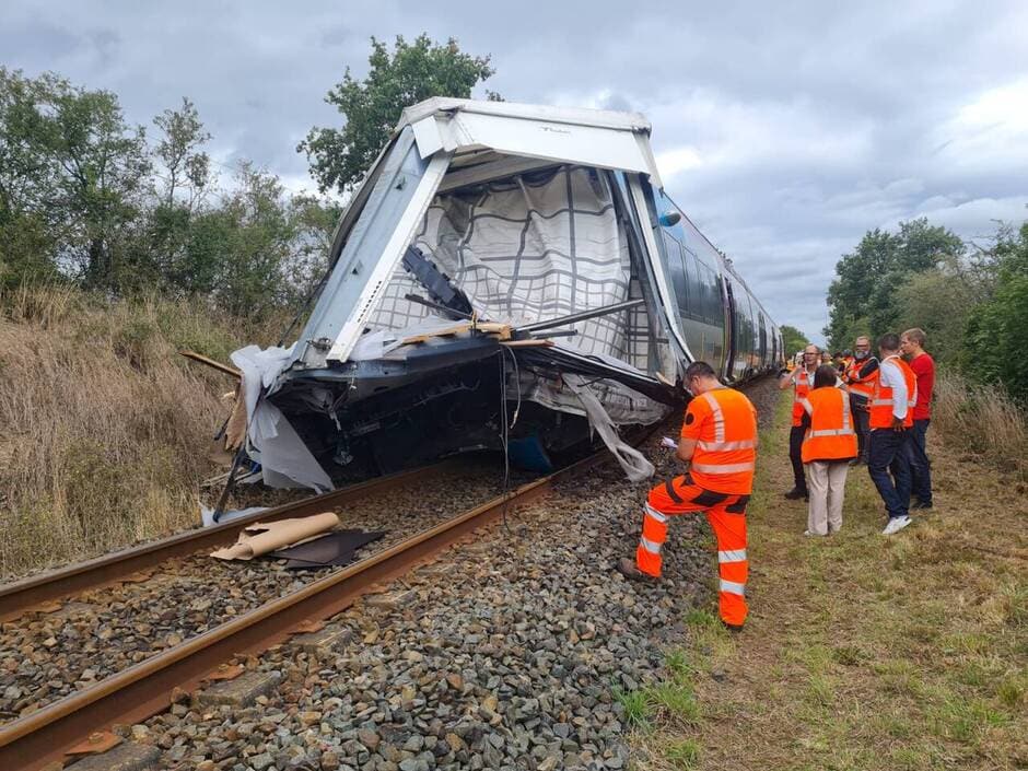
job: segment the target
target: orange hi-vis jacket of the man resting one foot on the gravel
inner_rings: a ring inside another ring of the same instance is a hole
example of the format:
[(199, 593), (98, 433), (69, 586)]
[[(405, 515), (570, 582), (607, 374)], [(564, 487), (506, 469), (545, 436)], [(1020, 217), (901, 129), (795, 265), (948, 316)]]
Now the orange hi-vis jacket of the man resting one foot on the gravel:
[(709, 419), (700, 424), (689, 474), (704, 490), (748, 495), (757, 465), (752, 404), (733, 388), (715, 388), (696, 398), (701, 401), (693, 413), (709, 412)]

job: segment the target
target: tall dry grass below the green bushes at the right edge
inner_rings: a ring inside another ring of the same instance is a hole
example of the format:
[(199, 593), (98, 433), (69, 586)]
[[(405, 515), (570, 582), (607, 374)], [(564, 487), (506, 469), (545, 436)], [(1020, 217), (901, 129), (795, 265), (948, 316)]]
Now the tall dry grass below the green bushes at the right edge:
[(1028, 418), (1002, 387), (939, 373), (932, 424), (954, 446), (1028, 480)]

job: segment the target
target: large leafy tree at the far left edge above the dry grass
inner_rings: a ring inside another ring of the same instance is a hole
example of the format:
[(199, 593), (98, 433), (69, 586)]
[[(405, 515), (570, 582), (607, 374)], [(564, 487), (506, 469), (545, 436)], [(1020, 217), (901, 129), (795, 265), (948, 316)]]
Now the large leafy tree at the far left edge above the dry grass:
[(108, 91), (7, 70), (0, 124), (0, 226), (20, 232), (19, 248), (23, 230), (45, 235), (30, 242), (49, 250), (40, 260), (50, 269), (113, 288), (117, 246), (150, 185), (143, 129), (125, 122)]

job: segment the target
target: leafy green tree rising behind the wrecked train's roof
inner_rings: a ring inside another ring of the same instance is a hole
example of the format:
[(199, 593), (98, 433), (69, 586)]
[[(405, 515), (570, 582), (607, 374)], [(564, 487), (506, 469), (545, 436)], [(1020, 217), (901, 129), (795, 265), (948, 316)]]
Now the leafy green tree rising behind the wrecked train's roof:
[[(348, 67), (342, 82), (325, 97), (346, 118), (343, 127), (312, 128), (296, 148), (306, 153), (322, 192), (346, 194), (363, 178), (405, 107), (432, 96), (468, 98), (494, 73), (489, 56), (463, 54), (454, 38), (440, 45), (422, 33), (408, 44), (397, 35), (392, 54), (374, 37), (371, 46), (367, 77), (358, 81)], [(487, 95), (499, 98), (492, 92)]]

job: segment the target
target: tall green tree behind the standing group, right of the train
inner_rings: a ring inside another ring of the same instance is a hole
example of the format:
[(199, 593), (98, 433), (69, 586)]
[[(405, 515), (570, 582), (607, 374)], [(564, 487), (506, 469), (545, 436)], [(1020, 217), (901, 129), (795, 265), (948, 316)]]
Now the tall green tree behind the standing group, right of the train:
[(901, 313), (897, 289), (913, 274), (963, 254), (963, 242), (956, 234), (930, 225), (924, 218), (901, 222), (898, 233), (868, 231), (856, 249), (836, 265), (825, 327), (829, 346), (845, 348), (856, 335), (895, 331)]

